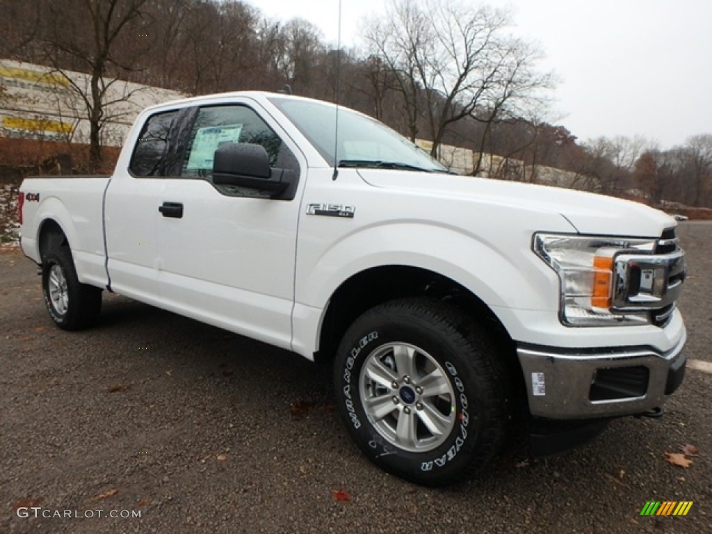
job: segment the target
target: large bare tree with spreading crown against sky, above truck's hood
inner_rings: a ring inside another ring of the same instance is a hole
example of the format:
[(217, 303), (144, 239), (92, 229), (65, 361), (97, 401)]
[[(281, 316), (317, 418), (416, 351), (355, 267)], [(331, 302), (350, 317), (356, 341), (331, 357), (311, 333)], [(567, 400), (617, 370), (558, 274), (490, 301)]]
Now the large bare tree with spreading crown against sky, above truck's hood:
[(370, 51), (395, 75), (409, 135), (423, 115), (432, 155), (454, 122), (515, 115), (553, 86), (553, 75), (535, 70), (538, 49), (513, 38), (508, 23), (505, 11), (459, 0), (393, 0), (384, 19), (368, 23)]

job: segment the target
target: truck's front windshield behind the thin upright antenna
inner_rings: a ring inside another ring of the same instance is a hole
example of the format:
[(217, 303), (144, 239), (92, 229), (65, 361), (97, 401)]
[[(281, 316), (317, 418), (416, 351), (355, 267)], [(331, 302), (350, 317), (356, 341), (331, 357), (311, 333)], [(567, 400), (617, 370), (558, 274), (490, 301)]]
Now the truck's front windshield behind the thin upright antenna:
[[(298, 127), (328, 164), (335, 164), (335, 105), (282, 97), (271, 97), (270, 100)], [(337, 157), (339, 167), (447, 172), (439, 162), (402, 135), (349, 108), (339, 108)]]

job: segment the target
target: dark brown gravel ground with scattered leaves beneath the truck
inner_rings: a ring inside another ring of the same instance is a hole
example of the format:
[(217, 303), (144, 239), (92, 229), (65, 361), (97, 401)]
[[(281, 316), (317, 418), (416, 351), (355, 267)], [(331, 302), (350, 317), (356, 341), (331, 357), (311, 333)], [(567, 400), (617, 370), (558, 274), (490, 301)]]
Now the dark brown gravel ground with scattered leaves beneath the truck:
[[(687, 355), (711, 360), (712, 223), (679, 235)], [(98, 327), (66, 333), (19, 251), (0, 253), (0, 280), (0, 533), (712, 531), (712, 375), (689, 370), (662, 419), (619, 419), (547, 461), (515, 444), (426, 489), (351, 444), (328, 367), (114, 295)], [(685, 444), (691, 466), (668, 464)], [(646, 501), (694, 504), (641, 517)], [(31, 506), (72, 517), (18, 517)]]

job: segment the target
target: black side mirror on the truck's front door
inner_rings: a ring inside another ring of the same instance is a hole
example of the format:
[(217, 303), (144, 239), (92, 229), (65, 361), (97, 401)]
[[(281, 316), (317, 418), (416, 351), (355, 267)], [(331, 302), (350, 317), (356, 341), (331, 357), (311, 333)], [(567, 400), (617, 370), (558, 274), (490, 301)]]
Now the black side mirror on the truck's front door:
[(269, 156), (262, 145), (229, 142), (218, 147), (213, 158), (213, 183), (235, 185), (281, 194), (288, 181), (283, 169), (271, 169)]

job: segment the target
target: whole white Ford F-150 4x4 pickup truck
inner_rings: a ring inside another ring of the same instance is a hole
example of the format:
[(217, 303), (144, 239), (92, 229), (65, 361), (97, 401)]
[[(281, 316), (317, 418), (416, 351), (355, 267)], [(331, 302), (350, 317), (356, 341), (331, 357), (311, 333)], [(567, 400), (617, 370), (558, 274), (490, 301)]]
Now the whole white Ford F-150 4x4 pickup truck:
[(417, 483), (471, 476), (513, 426), (548, 454), (659, 414), (684, 375), (674, 219), (449, 174), (332, 104), (158, 105), (111, 177), (26, 179), (19, 199), (60, 328), (108, 290), (333, 360), (352, 438)]

